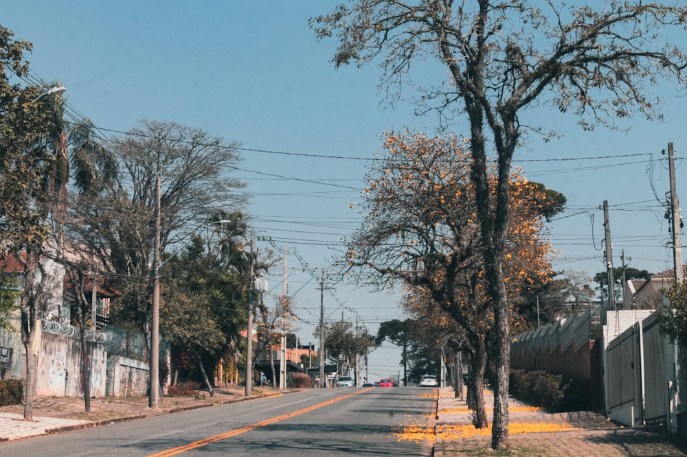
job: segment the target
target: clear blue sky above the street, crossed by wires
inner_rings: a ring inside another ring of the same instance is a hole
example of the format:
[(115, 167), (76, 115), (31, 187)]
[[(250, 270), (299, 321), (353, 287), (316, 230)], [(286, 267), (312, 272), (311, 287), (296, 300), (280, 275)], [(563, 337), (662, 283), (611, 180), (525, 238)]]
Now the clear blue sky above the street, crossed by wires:
[[(314, 271), (327, 268), (338, 240), (360, 221), (348, 204), (359, 201), (366, 159), (379, 151), (382, 132), (408, 127), (433, 133), (437, 124), (431, 115), (414, 117), (409, 103), (387, 107), (374, 65), (334, 68), (335, 40), (317, 43), (308, 19), (336, 1), (2, 3), (0, 25), (34, 44), (27, 56), (33, 75), (62, 80), (69, 104), (96, 126), (126, 131), (139, 119), (175, 121), (240, 141), (243, 171), (235, 177), (254, 196), (247, 208), (254, 228), (275, 246), (295, 249)], [(603, 200), (609, 202), (616, 265), (624, 250), (634, 268), (672, 268), (659, 200), (668, 191), (661, 154), (668, 142), (675, 144), (678, 195), (687, 179), (684, 98), (675, 94), (671, 84), (660, 88), (667, 96), (664, 123), (638, 116), (621, 124), (629, 132), (583, 132), (572, 115), (545, 107), (532, 113), (532, 121), (563, 135), (549, 143), (530, 137), (515, 155), (530, 180), (567, 196), (567, 210), (550, 224), (552, 244), (561, 250), (555, 270), (593, 275), (605, 268)], [(453, 131), (464, 133), (461, 128)], [(315, 157), (320, 155), (348, 159)], [(290, 255), (288, 266), (301, 265)], [(276, 270), (271, 287), (280, 294)], [(288, 282), (300, 319), (296, 333), (316, 343), (317, 279), (299, 273)], [(343, 311), (376, 333), (381, 321), (402, 318), (399, 298), (397, 290), (372, 294), (337, 285), (324, 294), (325, 315), (340, 319)], [(398, 374), (396, 355), (387, 353), (394, 351), (372, 353), (370, 379)]]

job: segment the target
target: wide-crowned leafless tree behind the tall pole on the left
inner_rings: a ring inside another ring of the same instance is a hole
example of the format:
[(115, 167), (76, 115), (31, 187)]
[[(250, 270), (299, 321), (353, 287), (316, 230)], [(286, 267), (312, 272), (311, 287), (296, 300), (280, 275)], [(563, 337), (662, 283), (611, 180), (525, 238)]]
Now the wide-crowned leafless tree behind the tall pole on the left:
[[(237, 143), (173, 122), (142, 121), (115, 139), (117, 178), (69, 207), (69, 235), (104, 266), (121, 295), (113, 321), (150, 335), (156, 182), (161, 178), (161, 252), (188, 244), (222, 209), (245, 201), (231, 178)], [(164, 257), (164, 255), (163, 255)]]

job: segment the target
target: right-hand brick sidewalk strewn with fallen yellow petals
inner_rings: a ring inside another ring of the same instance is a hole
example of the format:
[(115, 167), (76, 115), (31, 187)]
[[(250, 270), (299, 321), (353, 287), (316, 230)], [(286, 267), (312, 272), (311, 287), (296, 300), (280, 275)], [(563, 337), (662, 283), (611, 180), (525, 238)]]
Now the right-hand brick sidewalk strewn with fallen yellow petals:
[[(493, 420), (493, 392), (485, 391), (489, 423)], [(622, 457), (687, 456), (684, 438), (647, 428), (623, 427), (594, 412), (552, 414), (510, 397), (510, 445), (517, 456)], [(440, 388), (433, 456), (458, 457), (491, 453), (491, 428), (475, 434), (466, 402)], [(499, 454), (500, 455), (500, 454)]]

